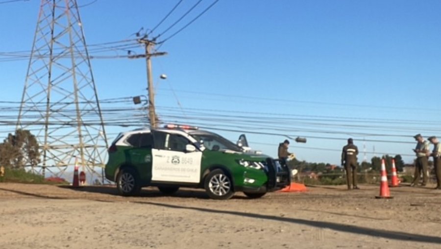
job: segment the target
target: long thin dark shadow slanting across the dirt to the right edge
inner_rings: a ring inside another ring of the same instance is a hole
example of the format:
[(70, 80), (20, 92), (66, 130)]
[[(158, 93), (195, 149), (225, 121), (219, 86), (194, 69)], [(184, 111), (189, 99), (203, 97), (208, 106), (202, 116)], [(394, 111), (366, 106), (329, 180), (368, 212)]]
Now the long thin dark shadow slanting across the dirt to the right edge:
[(303, 220), (303, 219), (298, 219), (298, 218), (280, 217), (280, 216), (272, 216), (272, 215), (257, 214), (257, 213), (244, 213), (244, 212), (239, 212), (239, 211), (219, 210), (219, 209), (210, 209), (210, 208), (203, 208), (203, 207), (183, 207), (183, 206), (176, 206), (176, 205), (163, 204), (163, 203), (153, 203), (153, 202), (135, 202), (135, 203), (145, 204), (145, 205), (154, 205), (154, 206), (159, 206), (159, 207), (175, 208), (175, 209), (189, 209), (189, 210), (196, 210), (196, 211), (200, 211), (200, 212), (237, 215), (237, 216), (242, 216), (242, 217), (266, 219), (266, 220), (273, 220), (273, 221), (280, 221), (280, 222), (287, 222), (287, 223), (295, 223), (295, 224), (299, 224), (299, 225), (306, 225), (306, 226), (311, 226), (311, 227), (316, 227), (316, 228), (329, 228), (329, 229), (332, 229), (335, 231), (362, 234), (362, 235), (368, 235), (368, 236), (372, 236), (372, 237), (380, 237), (380, 238), (391, 239), (391, 240), (441, 244), (441, 237), (412, 234), (412, 233), (400, 232), (400, 231), (387, 231), (387, 230), (382, 230), (382, 229), (364, 228), (364, 227), (338, 224), (338, 223), (325, 222), (325, 221)]

